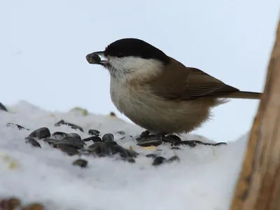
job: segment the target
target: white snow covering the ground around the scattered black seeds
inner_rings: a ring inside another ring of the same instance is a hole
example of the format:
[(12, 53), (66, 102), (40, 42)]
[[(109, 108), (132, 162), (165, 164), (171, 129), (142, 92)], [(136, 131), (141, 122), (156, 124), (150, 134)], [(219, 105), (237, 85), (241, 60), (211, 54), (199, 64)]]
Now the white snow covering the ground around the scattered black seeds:
[[(89, 137), (89, 129), (97, 129), (102, 134), (123, 130), (133, 137), (144, 130), (118, 117), (93, 113), (83, 116), (78, 111), (50, 112), (27, 102), (7, 108), (10, 113), (0, 111), (0, 197), (16, 196), (24, 204), (42, 202), (49, 209), (224, 210), (230, 207), (247, 134), (228, 145), (180, 146), (181, 151), (172, 151), (168, 145), (141, 148), (130, 137), (120, 140), (116, 136), (118, 144), (125, 148), (132, 146), (141, 153), (134, 164), (85, 156), (82, 158), (88, 161), (88, 167), (82, 169), (72, 165), (78, 156), (68, 156), (40, 140), (42, 148), (32, 148), (24, 138), (39, 127), (48, 127), (51, 133), (76, 132), (82, 138)], [(85, 132), (66, 125), (55, 127), (61, 119), (83, 127)], [(18, 123), (30, 131), (6, 127), (6, 123)], [(187, 139), (209, 142), (200, 136), (182, 136), (182, 140)], [(176, 153), (181, 161), (153, 167), (152, 159), (145, 155), (156, 149), (162, 149), (165, 158)]]

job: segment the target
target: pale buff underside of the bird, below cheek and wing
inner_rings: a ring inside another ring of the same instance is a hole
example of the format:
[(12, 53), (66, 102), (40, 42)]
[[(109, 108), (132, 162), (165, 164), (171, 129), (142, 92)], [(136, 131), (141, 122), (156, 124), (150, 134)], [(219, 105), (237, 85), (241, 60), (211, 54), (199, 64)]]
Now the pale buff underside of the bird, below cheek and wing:
[(146, 91), (111, 88), (111, 99), (127, 118), (151, 132), (190, 132), (209, 117), (203, 104), (167, 101)]

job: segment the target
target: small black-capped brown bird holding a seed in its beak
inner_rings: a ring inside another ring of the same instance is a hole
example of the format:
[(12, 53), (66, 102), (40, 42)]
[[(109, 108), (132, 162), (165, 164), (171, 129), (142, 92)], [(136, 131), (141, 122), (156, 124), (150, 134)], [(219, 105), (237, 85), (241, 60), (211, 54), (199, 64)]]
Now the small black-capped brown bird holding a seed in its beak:
[(115, 41), (86, 59), (108, 69), (111, 100), (118, 111), (155, 134), (192, 132), (211, 118), (212, 108), (228, 99), (260, 99), (261, 95), (184, 66), (138, 38)]

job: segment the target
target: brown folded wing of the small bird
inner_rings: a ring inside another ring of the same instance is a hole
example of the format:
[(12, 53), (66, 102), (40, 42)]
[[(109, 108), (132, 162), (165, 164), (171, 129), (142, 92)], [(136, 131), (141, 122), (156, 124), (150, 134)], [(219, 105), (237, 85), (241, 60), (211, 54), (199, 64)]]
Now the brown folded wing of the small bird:
[(239, 92), (235, 87), (223, 83), (209, 74), (186, 67), (173, 59), (160, 76), (149, 82), (155, 94), (167, 99), (188, 100), (200, 97)]

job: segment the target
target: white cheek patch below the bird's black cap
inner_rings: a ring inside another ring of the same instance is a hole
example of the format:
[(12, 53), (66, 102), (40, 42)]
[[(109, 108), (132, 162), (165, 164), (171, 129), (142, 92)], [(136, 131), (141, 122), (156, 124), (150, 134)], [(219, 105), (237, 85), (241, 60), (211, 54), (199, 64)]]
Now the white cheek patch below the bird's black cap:
[(108, 57), (113, 66), (114, 76), (123, 79), (141, 79), (156, 75), (162, 71), (164, 65), (156, 59), (144, 59), (141, 57)]

